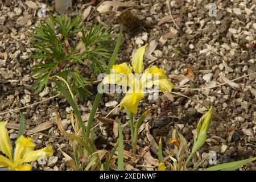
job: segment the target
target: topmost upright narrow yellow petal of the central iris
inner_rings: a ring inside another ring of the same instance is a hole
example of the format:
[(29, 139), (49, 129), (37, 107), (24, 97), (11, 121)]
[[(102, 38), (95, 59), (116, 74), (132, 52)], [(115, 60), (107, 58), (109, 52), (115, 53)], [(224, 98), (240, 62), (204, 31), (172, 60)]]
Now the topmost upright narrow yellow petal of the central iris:
[(148, 46), (148, 44), (138, 48), (133, 56), (131, 65), (133, 65), (133, 70), (135, 73), (141, 74), (143, 72), (143, 69), (144, 69), (143, 56), (144, 56), (144, 52), (146, 51), (147, 46)]

